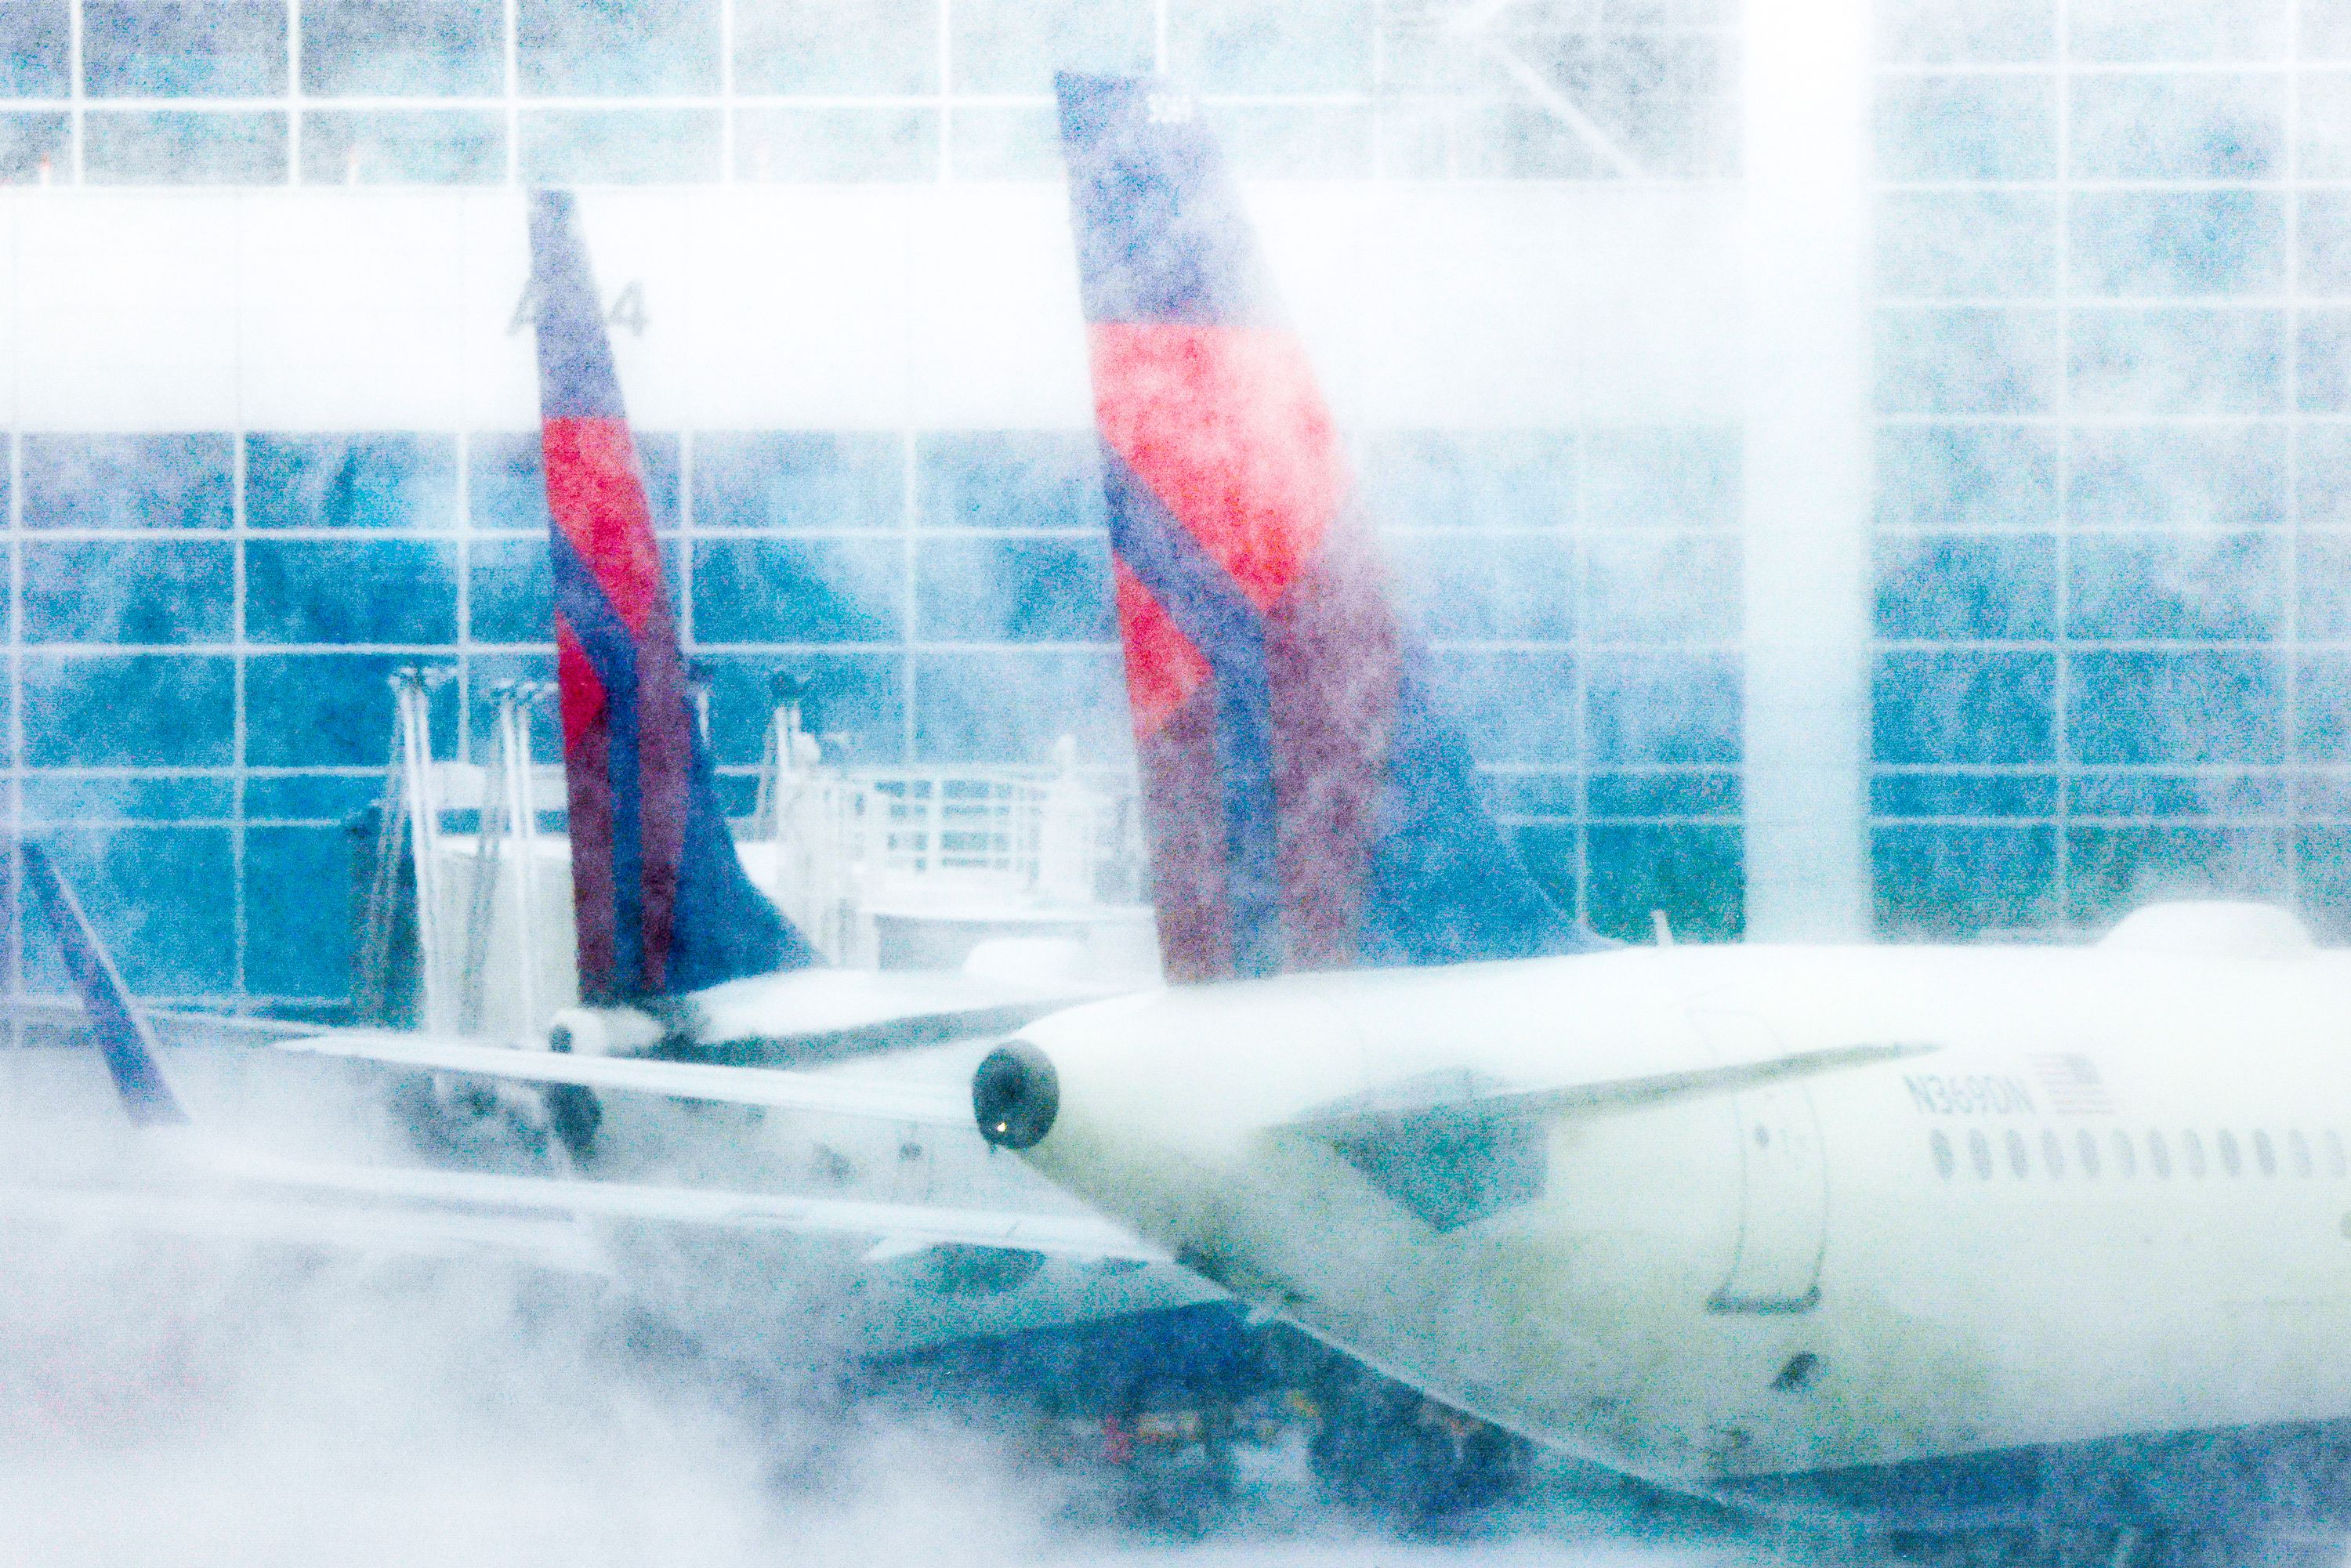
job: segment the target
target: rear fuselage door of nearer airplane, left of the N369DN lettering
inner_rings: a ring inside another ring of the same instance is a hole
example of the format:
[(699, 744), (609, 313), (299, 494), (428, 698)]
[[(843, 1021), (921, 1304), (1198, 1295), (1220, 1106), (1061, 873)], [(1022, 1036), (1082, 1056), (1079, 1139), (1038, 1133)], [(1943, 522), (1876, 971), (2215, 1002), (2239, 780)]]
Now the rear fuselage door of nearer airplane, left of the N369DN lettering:
[[(1754, 1013), (1693, 1013), (1714, 1053), (1730, 1060), (1784, 1056)], [(1740, 1128), (1740, 1239), (1712, 1312), (1810, 1312), (1820, 1302), (1820, 1255), (1829, 1234), (1829, 1168), (1820, 1119), (1803, 1081), (1730, 1095)]]

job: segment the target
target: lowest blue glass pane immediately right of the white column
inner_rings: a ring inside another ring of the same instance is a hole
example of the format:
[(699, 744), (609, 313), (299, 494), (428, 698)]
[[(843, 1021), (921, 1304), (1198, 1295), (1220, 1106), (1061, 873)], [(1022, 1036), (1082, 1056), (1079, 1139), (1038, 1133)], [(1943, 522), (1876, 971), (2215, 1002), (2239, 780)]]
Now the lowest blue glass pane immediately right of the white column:
[(1876, 827), (1869, 872), (1878, 936), (1954, 940), (2057, 919), (2052, 827)]

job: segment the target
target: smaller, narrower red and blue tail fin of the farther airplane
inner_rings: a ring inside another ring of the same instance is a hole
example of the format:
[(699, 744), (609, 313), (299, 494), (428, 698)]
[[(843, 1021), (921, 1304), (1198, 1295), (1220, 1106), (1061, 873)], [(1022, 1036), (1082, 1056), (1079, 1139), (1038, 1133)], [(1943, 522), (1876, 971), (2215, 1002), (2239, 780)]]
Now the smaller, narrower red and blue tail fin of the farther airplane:
[(564, 190), (531, 193), (531, 296), (581, 1001), (675, 997), (816, 964), (743, 875), (726, 832)]

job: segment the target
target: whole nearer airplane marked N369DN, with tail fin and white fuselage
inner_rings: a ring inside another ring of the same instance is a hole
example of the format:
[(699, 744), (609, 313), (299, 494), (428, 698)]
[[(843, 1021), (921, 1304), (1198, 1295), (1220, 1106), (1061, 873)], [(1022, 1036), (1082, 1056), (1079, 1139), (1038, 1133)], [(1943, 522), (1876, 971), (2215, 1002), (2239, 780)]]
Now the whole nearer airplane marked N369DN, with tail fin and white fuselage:
[[(1460, 769), (1415, 750), (1418, 654), (1211, 139), (1147, 80), (1058, 103), (1147, 790), (1197, 877), (1161, 882), (1171, 985), (1023, 1025), (973, 1074), (983, 1135), (1241, 1302), (1674, 1493), (1980, 1561), (2342, 1561), (2351, 952), (2245, 903), (2085, 947), (1509, 952), (1554, 926), (1481, 851), (1375, 837), (1458, 823)], [(1333, 642), (1382, 649), (1345, 701), (1396, 715), (1359, 731), (1385, 790), (1284, 736), (1333, 710), (1291, 649)], [(1284, 741), (1333, 766), (1302, 813)], [(1462, 900), (1392, 896), (1399, 858)]]

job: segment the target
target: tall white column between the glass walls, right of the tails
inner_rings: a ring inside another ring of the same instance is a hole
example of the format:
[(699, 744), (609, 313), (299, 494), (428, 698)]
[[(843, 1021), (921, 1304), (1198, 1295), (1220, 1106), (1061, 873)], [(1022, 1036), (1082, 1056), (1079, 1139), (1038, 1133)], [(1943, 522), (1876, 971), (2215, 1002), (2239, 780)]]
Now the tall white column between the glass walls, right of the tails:
[(1747, 7), (1747, 936), (1869, 933), (1867, 0)]

